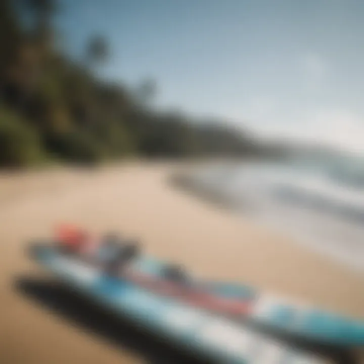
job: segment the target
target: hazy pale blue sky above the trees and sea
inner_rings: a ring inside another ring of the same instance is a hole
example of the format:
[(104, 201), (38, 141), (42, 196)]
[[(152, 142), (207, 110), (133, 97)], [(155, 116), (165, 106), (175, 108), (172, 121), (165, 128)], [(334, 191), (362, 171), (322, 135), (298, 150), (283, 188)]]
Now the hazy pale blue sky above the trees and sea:
[(155, 78), (158, 106), (364, 150), (361, 0), (62, 0), (58, 23), (74, 57), (105, 35), (103, 76)]

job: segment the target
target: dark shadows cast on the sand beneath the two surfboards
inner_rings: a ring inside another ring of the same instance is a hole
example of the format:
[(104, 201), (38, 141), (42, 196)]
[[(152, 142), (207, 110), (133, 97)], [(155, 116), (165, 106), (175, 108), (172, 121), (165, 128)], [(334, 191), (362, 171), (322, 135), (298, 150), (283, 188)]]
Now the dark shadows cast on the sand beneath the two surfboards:
[[(205, 360), (180, 351), (168, 342), (153, 337), (132, 325), (127, 317), (121, 319), (121, 317), (113, 315), (52, 279), (19, 277), (15, 280), (15, 289), (28, 299), (62, 316), (73, 325), (99, 336), (119, 348), (126, 348), (142, 355), (148, 364), (207, 363)], [(302, 343), (291, 344), (322, 354), (337, 364), (359, 364), (354, 355), (346, 350), (307, 347)]]

